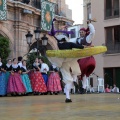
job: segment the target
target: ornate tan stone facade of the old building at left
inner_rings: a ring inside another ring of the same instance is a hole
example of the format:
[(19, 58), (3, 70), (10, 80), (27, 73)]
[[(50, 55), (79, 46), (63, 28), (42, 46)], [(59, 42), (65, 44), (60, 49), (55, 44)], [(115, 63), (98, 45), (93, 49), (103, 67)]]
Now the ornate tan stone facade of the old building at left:
[[(36, 27), (40, 27), (40, 0), (30, 0), (29, 4), (21, 2), (22, 0), (7, 0), (7, 20), (0, 21), (0, 35), (9, 38), (11, 54), (10, 58), (24, 56), (29, 50), (29, 46), (26, 41), (26, 34), (30, 31), (33, 34), (32, 44), (34, 46), (37, 44), (35, 40), (34, 30)], [(65, 25), (66, 22), (73, 24), (72, 19), (68, 19), (66, 15), (61, 15), (60, 4), (57, 0), (49, 0), (55, 3), (55, 17), (58, 19), (56, 23), (56, 28)], [(65, 1), (65, 0), (59, 0)], [(62, 2), (61, 2), (62, 3)], [(64, 2), (65, 3), (65, 2)], [(56, 7), (57, 6), (57, 7)], [(64, 5), (66, 6), (66, 4)], [(25, 13), (24, 10), (27, 9), (30, 13)], [(66, 7), (65, 7), (66, 9)], [(66, 10), (65, 10), (66, 12)], [(41, 33), (41, 37), (43, 34)], [(48, 37), (47, 49), (57, 49), (57, 43), (53, 37)], [(39, 42), (40, 46), (40, 42)]]

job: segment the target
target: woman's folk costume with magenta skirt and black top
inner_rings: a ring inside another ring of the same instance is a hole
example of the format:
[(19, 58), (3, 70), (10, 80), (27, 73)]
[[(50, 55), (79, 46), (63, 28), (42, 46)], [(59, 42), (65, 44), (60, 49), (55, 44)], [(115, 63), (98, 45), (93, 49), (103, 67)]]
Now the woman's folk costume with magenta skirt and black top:
[(17, 64), (11, 65), (12, 73), (10, 74), (9, 80), (8, 80), (8, 88), (7, 93), (25, 93), (26, 89), (22, 82), (22, 79), (20, 77), (20, 66)]

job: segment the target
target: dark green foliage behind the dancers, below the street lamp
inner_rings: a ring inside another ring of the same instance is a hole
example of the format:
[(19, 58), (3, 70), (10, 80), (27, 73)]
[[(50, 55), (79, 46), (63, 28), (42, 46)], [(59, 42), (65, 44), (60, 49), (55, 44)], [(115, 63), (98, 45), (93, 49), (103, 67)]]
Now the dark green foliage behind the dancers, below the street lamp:
[[(34, 63), (34, 61), (35, 61), (36, 58), (37, 58), (36, 53), (30, 53), (30, 54), (28, 54), (28, 56), (27, 56), (27, 68), (28, 69), (32, 69), (32, 65), (33, 65), (33, 63)], [(48, 64), (48, 66), (50, 66), (51, 63), (49, 62), (49, 60), (48, 60), (47, 57), (45, 57), (45, 56), (38, 56), (38, 58), (43, 59), (44, 62), (46, 64)]]

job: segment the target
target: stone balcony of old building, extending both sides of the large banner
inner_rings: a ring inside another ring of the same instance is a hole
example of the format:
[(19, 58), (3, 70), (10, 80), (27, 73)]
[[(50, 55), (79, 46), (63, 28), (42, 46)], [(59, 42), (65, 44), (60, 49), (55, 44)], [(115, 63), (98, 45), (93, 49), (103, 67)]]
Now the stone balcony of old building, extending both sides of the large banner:
[[(30, 10), (30, 11), (32, 11), (33, 14), (40, 15), (40, 11), (41, 11), (40, 0), (30, 0), (29, 4), (25, 4), (23, 2), (23, 0), (8, 0), (7, 4), (9, 6), (8, 8), (17, 7), (17, 8), (21, 8), (21, 9)], [(58, 10), (58, 4), (55, 5), (55, 17), (59, 21), (70, 22), (71, 24), (73, 24), (73, 22), (74, 22), (73, 20), (67, 18), (65, 14), (60, 13), (60, 11)]]

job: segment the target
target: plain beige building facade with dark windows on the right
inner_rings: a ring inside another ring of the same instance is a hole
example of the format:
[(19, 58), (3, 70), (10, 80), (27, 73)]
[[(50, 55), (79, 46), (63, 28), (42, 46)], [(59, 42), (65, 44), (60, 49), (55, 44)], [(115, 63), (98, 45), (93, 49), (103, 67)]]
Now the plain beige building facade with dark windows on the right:
[[(95, 46), (105, 45), (108, 51), (95, 56), (96, 68), (94, 73), (104, 78), (105, 84), (120, 88), (120, 0), (84, 0), (84, 25), (89, 18), (94, 22), (96, 35)], [(93, 75), (93, 85), (97, 77)]]

